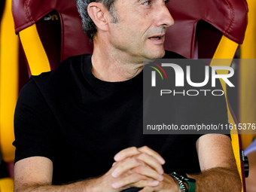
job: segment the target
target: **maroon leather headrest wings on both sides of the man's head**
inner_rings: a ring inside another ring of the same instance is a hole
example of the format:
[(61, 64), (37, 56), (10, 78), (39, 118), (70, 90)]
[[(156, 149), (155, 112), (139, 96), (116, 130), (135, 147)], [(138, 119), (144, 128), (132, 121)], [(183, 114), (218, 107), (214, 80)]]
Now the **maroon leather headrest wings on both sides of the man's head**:
[[(50, 11), (59, 12), (62, 23), (62, 57), (90, 53), (89, 40), (81, 28), (75, 0), (13, 0), (16, 32), (31, 26)], [(247, 26), (248, 6), (245, 0), (172, 0), (168, 8), (175, 25), (166, 33), (165, 48), (189, 56), (188, 49), (194, 46), (197, 23), (205, 20), (220, 32), (242, 44)], [(74, 44), (79, 50), (74, 50)], [(177, 50), (177, 47), (184, 50)]]

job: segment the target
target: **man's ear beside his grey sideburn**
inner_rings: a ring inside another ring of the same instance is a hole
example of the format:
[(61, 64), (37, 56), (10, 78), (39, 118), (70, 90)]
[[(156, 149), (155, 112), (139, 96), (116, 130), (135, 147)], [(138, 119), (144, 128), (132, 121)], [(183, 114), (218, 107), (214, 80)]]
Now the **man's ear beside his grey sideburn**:
[(110, 14), (101, 2), (91, 2), (88, 5), (87, 12), (98, 29), (102, 31), (108, 30)]

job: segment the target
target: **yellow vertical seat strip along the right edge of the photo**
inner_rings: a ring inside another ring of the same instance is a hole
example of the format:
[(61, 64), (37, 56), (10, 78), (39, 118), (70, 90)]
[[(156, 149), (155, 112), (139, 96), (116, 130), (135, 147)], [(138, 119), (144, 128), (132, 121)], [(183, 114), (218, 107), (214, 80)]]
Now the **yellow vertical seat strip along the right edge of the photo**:
[[(255, 123), (256, 119), (256, 1), (247, 0), (248, 3), (248, 26), (245, 32), (245, 41), (241, 45), (241, 59), (239, 81), (239, 108), (240, 123)], [(246, 63), (250, 59), (250, 64)], [(251, 144), (255, 134), (242, 134), (242, 148), (245, 149)]]

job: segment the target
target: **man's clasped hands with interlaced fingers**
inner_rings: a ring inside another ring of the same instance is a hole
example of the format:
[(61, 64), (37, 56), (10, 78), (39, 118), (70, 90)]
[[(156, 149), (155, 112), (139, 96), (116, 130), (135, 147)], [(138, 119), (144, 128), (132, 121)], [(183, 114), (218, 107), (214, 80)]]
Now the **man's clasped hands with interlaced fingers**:
[(126, 148), (114, 156), (115, 162), (101, 177), (105, 191), (119, 192), (139, 187), (139, 192), (178, 192), (178, 184), (163, 171), (165, 160), (146, 146)]

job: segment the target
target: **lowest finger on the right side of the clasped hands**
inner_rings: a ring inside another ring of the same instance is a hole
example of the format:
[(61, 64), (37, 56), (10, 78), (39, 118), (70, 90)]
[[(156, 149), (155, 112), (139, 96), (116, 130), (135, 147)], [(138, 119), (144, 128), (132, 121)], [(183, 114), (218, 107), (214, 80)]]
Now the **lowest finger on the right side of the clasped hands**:
[(157, 181), (163, 181), (163, 175), (159, 174), (149, 166), (137, 166), (132, 171)]

